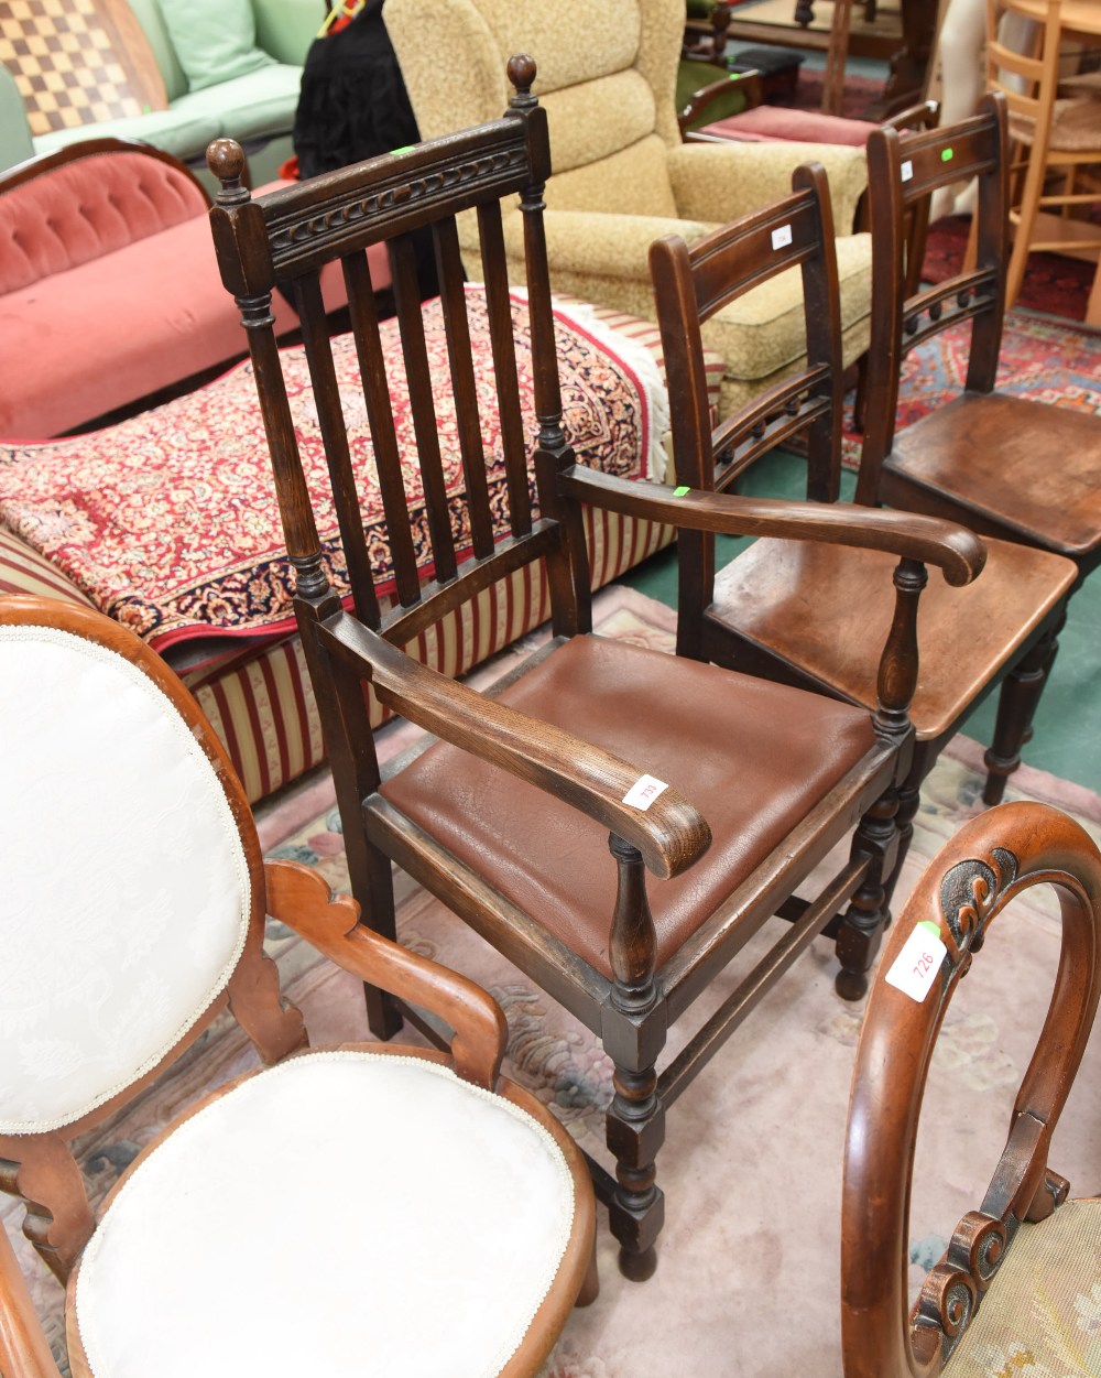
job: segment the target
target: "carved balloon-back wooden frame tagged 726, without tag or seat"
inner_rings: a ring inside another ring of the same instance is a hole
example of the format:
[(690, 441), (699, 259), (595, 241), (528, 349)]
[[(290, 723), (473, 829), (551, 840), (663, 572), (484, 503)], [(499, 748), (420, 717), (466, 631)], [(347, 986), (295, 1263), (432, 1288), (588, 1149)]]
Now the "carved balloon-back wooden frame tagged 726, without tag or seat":
[[(1036, 885), (1056, 887), (1062, 914), (1051, 1005), (987, 1195), (956, 1226), (911, 1310), (909, 1196), (937, 1035), (991, 923)], [(1000, 805), (966, 824), (930, 864), (892, 934), (883, 973), (922, 923), (937, 929), (947, 949), (933, 985), (916, 999), (881, 974), (853, 1071), (841, 1244), (845, 1378), (951, 1370), (1021, 1222), (1046, 1220), (1067, 1197), (1068, 1182), (1049, 1169), (1047, 1155), (1101, 992), (1101, 853), (1047, 805)]]

